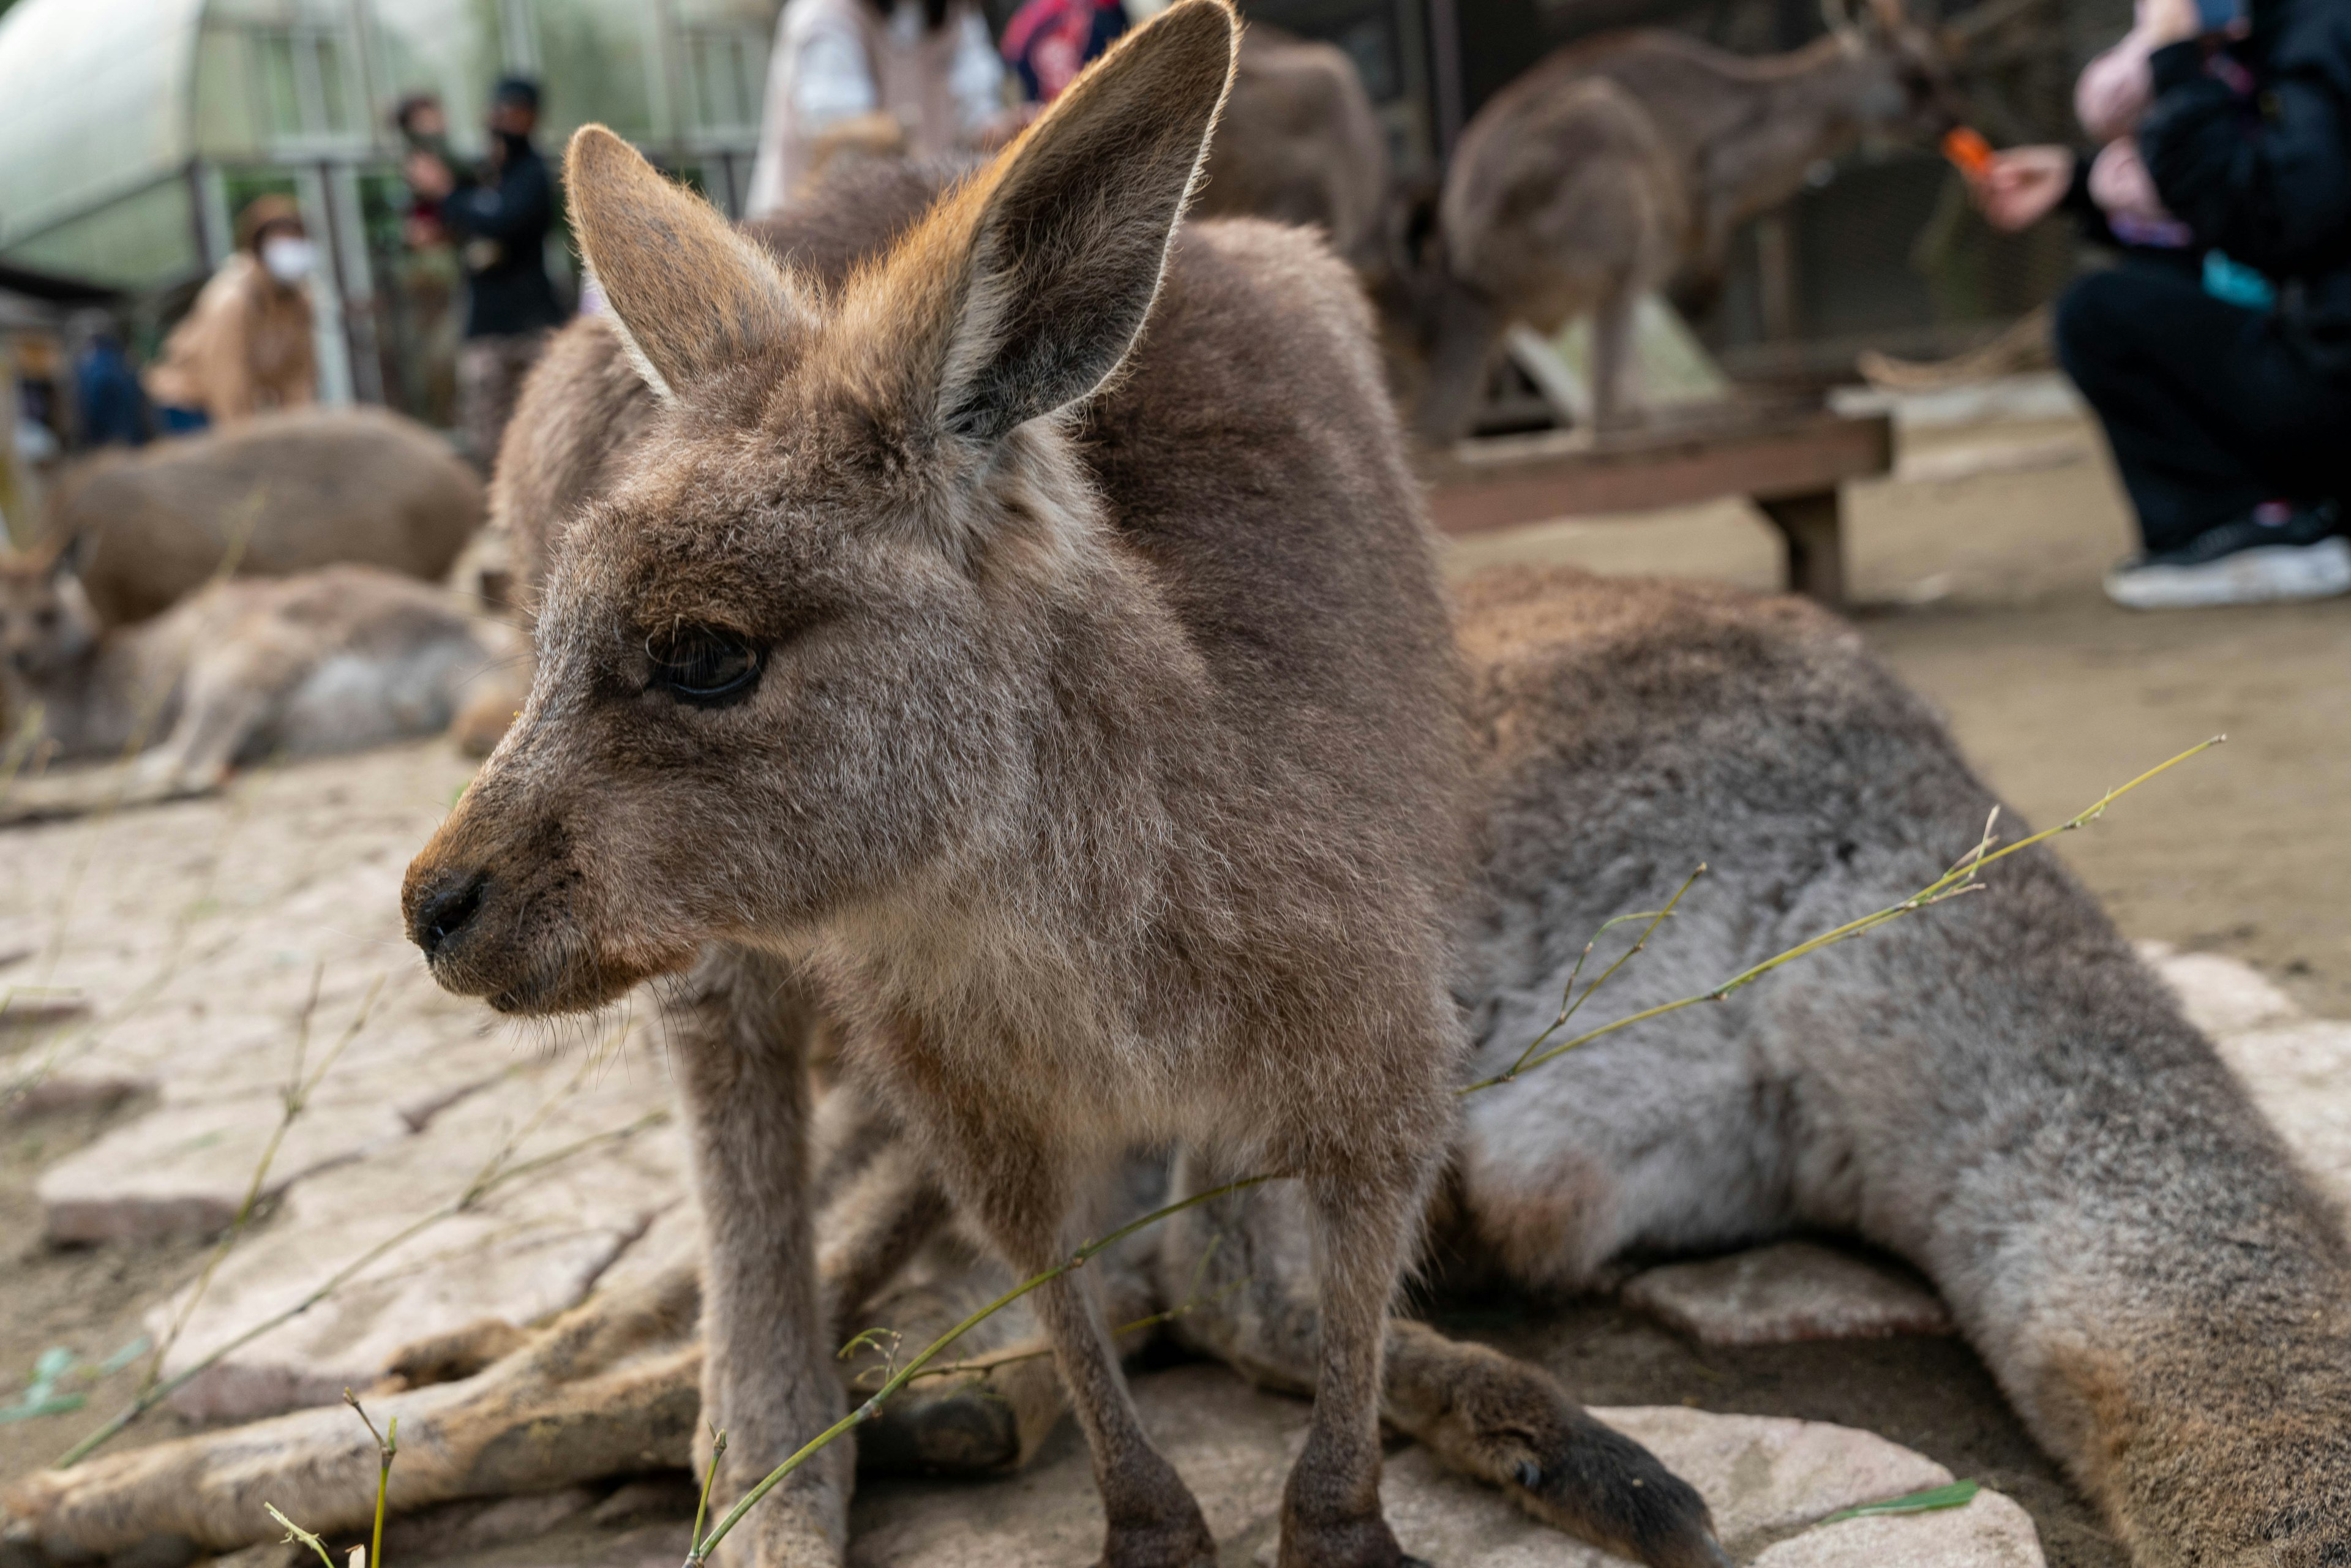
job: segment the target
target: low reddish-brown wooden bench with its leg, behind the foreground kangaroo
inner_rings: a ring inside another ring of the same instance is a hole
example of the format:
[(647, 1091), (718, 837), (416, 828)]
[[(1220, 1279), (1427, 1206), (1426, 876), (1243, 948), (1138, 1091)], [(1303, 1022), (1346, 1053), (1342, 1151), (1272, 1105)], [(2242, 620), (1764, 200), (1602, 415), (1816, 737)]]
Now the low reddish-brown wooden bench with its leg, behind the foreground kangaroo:
[(1606, 437), (1559, 430), (1458, 442), (1425, 461), (1422, 475), (1446, 534), (1747, 496), (1787, 538), (1787, 585), (1843, 604), (1841, 487), (1893, 470), (1893, 458), (1883, 414), (1737, 404)]

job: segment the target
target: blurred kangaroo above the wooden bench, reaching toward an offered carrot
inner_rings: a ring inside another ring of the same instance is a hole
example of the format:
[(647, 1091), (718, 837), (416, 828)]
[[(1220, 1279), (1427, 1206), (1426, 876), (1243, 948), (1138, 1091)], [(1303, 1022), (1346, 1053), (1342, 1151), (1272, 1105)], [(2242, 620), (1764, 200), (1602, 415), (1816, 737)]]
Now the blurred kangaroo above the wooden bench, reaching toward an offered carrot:
[(1420, 266), (1382, 287), (1425, 362), (1415, 428), (1462, 433), (1512, 322), (1552, 334), (1587, 313), (1594, 416), (1629, 418), (1641, 294), (1709, 287), (1737, 226), (1815, 162), (1864, 129), (1940, 129), (1949, 101), (1937, 45), (1900, 0), (1871, 0), (1869, 26), (1831, 12), (1827, 38), (1768, 59), (1662, 28), (1559, 49), (1462, 129)]

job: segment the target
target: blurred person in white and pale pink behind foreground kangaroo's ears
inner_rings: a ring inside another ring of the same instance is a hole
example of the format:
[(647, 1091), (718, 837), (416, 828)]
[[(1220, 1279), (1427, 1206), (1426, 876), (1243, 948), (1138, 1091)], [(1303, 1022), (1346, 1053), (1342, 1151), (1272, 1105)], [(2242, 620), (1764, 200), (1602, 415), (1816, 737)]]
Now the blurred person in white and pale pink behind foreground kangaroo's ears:
[(745, 216), (781, 209), (832, 146), (910, 158), (1002, 146), (1025, 115), (971, 0), (790, 0), (776, 19)]

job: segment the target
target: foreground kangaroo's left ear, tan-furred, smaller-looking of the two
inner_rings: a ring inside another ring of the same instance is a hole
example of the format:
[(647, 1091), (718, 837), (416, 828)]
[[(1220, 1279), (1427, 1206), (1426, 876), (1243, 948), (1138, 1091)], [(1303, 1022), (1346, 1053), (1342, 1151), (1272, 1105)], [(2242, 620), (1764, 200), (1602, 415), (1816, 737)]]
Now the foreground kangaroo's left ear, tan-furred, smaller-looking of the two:
[(766, 252), (602, 125), (571, 134), (564, 186), (588, 270), (661, 402), (788, 329), (790, 287)]

